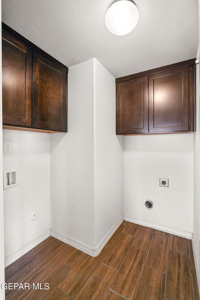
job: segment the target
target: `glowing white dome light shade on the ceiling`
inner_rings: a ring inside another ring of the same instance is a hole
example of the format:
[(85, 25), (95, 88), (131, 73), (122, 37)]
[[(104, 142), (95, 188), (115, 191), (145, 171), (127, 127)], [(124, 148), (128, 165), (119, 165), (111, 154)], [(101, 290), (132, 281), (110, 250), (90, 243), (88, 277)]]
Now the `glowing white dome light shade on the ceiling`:
[(115, 0), (108, 8), (105, 22), (113, 34), (125, 35), (133, 30), (138, 19), (138, 8), (132, 0)]

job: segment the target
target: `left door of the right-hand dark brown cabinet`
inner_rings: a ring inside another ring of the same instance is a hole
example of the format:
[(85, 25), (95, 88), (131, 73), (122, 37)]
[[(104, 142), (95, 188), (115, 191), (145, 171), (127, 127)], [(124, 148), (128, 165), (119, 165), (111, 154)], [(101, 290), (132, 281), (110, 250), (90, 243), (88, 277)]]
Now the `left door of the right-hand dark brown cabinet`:
[(117, 83), (117, 134), (148, 132), (148, 76)]

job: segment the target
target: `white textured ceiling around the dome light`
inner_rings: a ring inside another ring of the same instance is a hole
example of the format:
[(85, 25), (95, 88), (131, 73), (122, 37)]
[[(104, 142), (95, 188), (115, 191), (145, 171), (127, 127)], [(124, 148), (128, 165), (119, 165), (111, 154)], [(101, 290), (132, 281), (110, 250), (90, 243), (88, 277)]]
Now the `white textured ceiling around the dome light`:
[(112, 0), (2, 0), (2, 21), (67, 67), (97, 58), (115, 77), (196, 57), (198, 0), (134, 0), (139, 21), (115, 36)]

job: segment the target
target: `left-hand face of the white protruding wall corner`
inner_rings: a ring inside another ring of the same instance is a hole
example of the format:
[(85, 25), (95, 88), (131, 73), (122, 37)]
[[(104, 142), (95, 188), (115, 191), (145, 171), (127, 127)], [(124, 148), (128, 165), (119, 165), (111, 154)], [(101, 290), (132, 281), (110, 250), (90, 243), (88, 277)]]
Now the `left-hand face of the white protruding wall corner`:
[(69, 68), (68, 133), (51, 134), (51, 228), (94, 247), (93, 63)]

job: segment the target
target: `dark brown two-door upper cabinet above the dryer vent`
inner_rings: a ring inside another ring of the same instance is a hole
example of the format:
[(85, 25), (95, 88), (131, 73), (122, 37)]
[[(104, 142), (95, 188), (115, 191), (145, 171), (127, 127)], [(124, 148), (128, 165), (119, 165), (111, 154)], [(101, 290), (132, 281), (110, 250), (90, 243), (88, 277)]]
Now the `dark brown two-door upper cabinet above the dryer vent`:
[(117, 134), (195, 131), (195, 59), (116, 79)]

